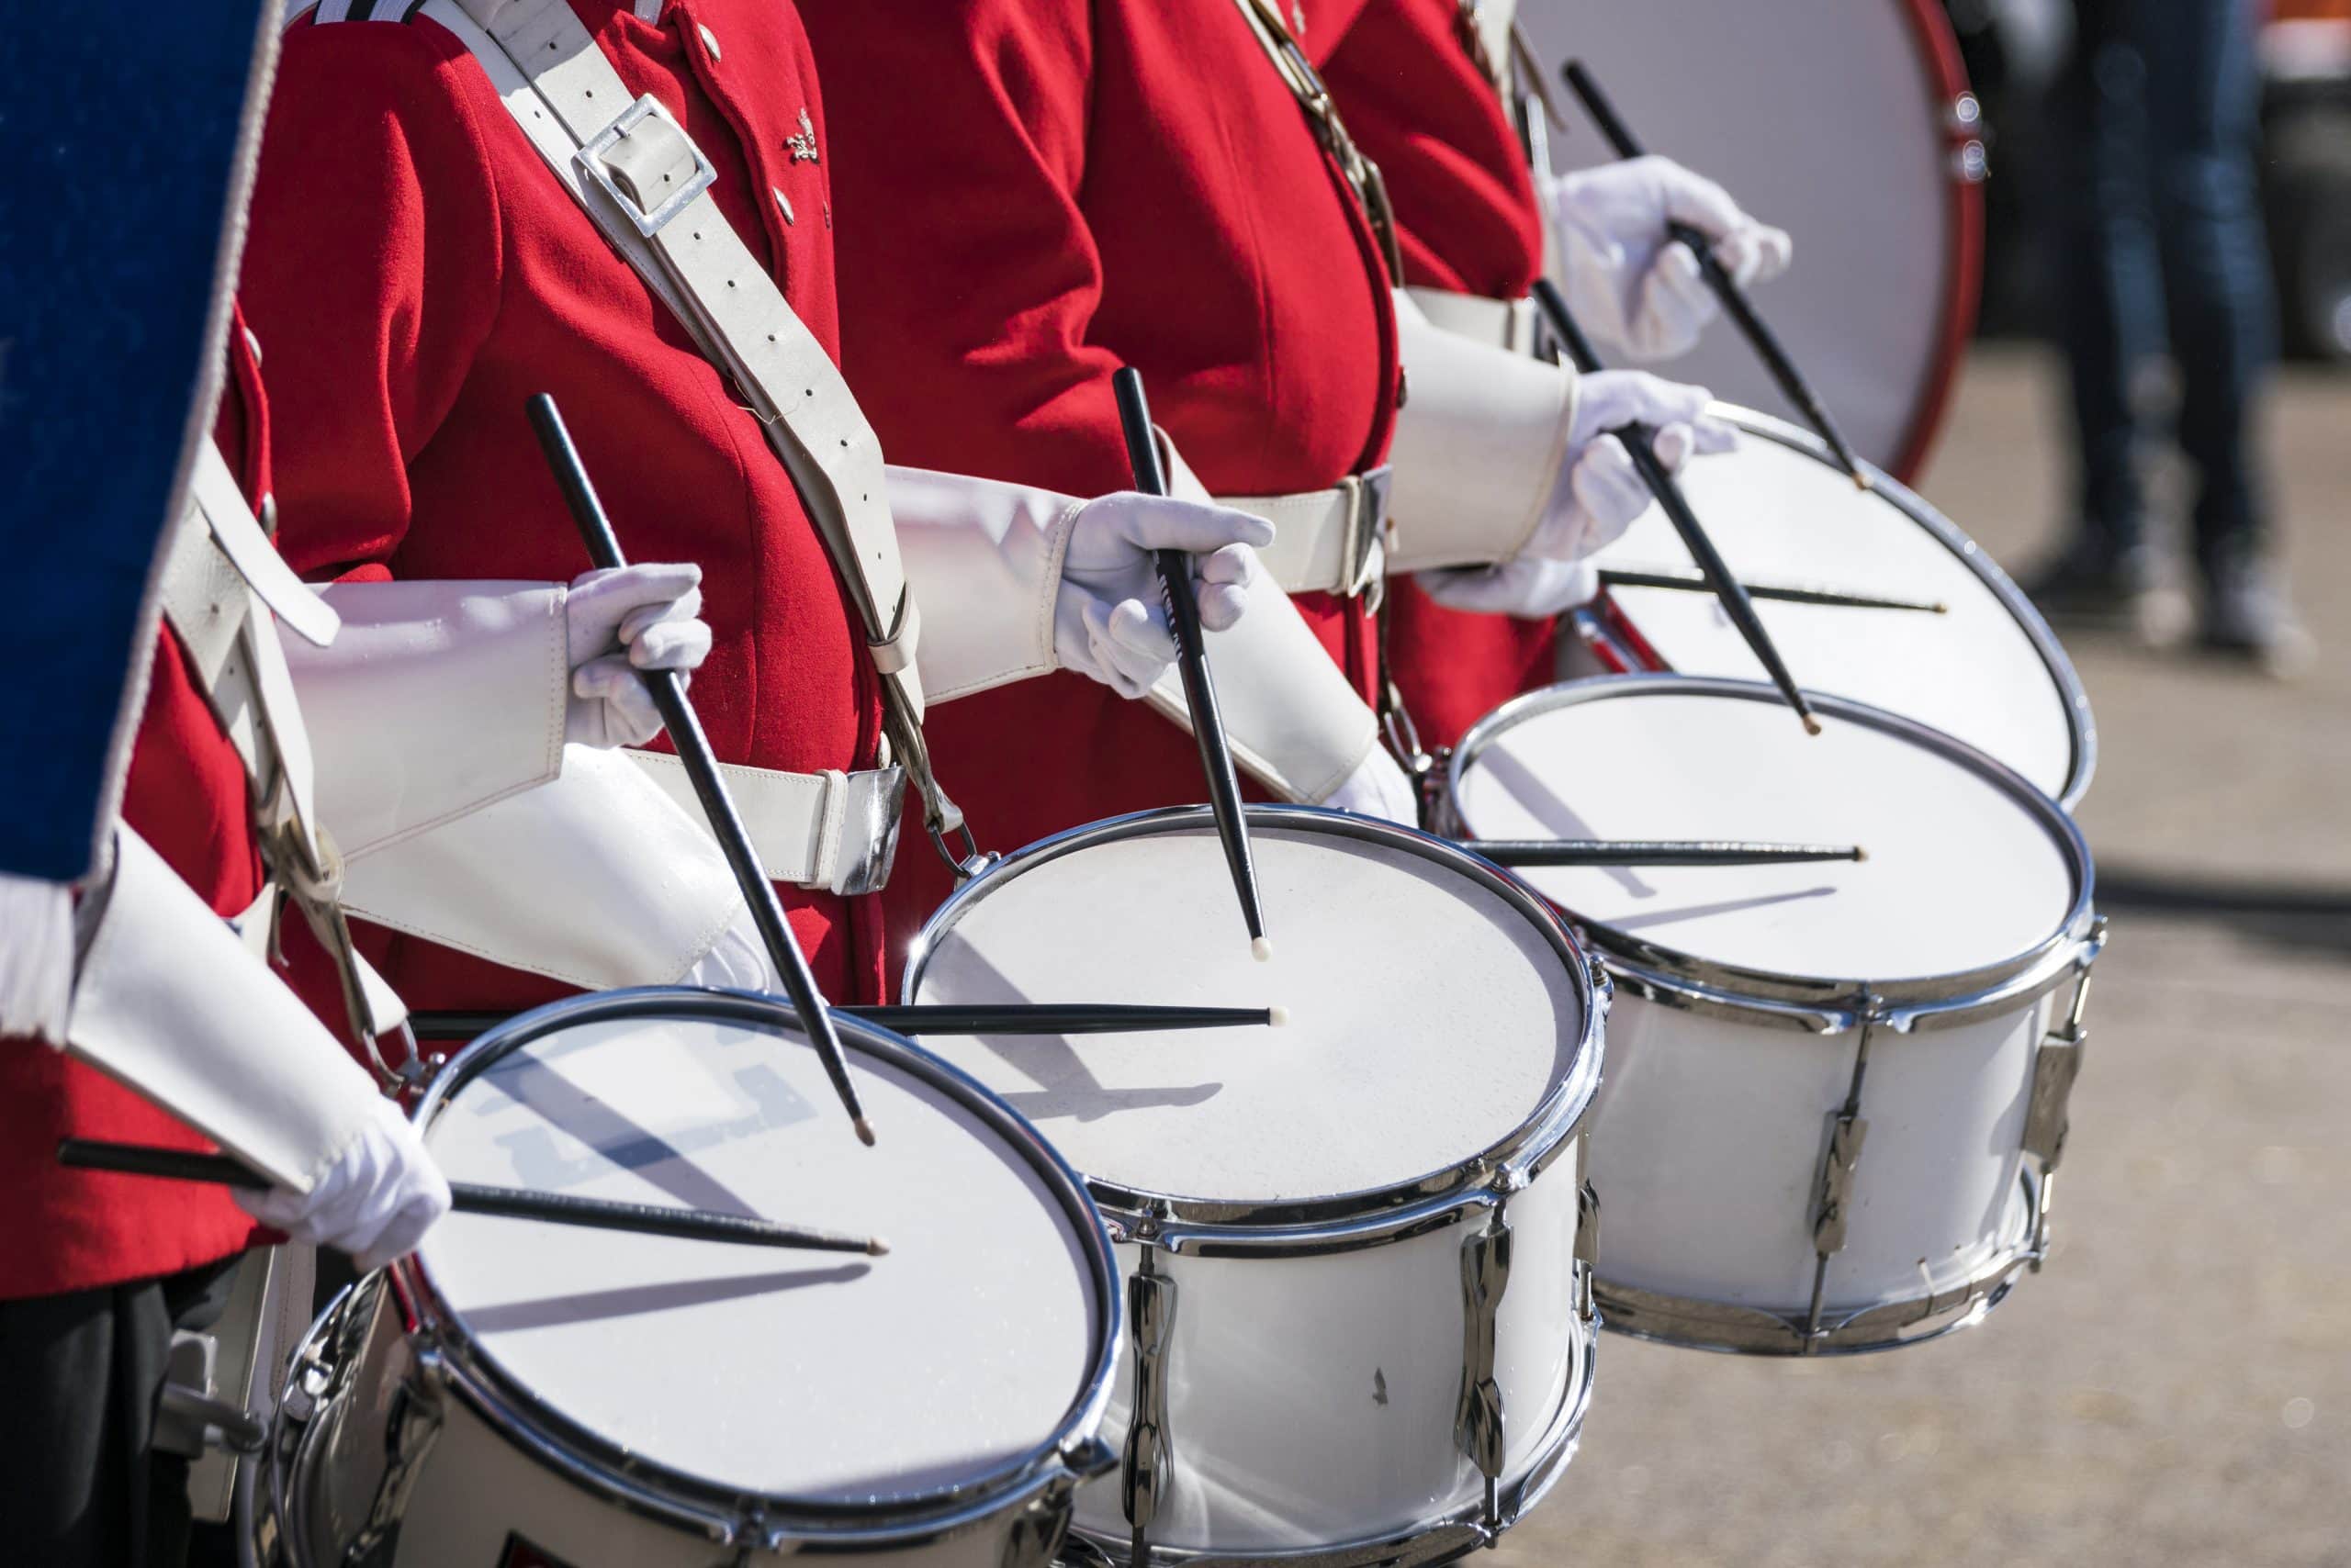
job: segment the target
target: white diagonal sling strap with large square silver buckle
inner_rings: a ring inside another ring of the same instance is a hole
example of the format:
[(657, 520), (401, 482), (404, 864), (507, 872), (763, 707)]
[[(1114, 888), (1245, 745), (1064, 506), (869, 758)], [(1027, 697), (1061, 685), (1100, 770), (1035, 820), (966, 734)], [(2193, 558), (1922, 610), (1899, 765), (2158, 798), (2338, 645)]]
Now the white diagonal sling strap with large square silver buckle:
[[(717, 169), (651, 94), (632, 96), (564, 0), (423, 0), (482, 63), (538, 155), (644, 287), (724, 371), (799, 491), (865, 628), (884, 731), (945, 853), (971, 835), (931, 773), (915, 646), (922, 616), (898, 562), (882, 442), (832, 355), (743, 244)], [(950, 860), (955, 856), (950, 853)]]

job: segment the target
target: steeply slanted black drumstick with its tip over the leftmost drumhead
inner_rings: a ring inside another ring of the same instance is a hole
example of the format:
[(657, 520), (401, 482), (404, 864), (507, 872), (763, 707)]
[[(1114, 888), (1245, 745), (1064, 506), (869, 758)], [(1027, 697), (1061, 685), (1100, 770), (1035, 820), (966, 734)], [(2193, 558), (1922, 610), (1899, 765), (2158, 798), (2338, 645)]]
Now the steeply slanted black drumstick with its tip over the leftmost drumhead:
[[(527, 407), (531, 428), (538, 433), (538, 449), (555, 473), (555, 484), (564, 491), (564, 505), (571, 508), (571, 522), (578, 524), (588, 557), (597, 567), (625, 567), (621, 541), (611, 531), (604, 503), (595, 496), (595, 484), (588, 482), (588, 468), (571, 447), (571, 433), (564, 430), (564, 416), (555, 409), (555, 400), (538, 393)], [(783, 900), (776, 898), (776, 884), (766, 879), (759, 851), (752, 849), (750, 835), (743, 832), (743, 818), (736, 816), (734, 799), (726, 795), (726, 780), (719, 776), (719, 759), (710, 750), (710, 736), (703, 733), (703, 722), (696, 717), (694, 703), (686, 701), (686, 677), (677, 670), (639, 670), (637, 675), (644, 679), (654, 708), (661, 710), (661, 726), (670, 731), (677, 759), (686, 764), (686, 778), (703, 804), (703, 816), (710, 818), (710, 832), (726, 853), (726, 865), (734, 867), (736, 884), (743, 889), (743, 903), (750, 905), (750, 919), (759, 926), (759, 940), (766, 943), (766, 957), (776, 964), (776, 973), (783, 976), (783, 990), (792, 999), (792, 1011), (799, 1013), (799, 1027), (806, 1030), (809, 1044), (816, 1046), (816, 1056), (825, 1065), (825, 1077), (832, 1079), (832, 1093), (842, 1098), (842, 1110), (849, 1112), (849, 1124), (856, 1128), (858, 1143), (870, 1147), (875, 1128), (865, 1119), (865, 1107), (858, 1105), (856, 1084), (849, 1081), (842, 1034), (832, 1023), (832, 1013), (825, 1011), (825, 999), (816, 994), (816, 976), (809, 973), (809, 959), (799, 952), (792, 924), (783, 917)]]

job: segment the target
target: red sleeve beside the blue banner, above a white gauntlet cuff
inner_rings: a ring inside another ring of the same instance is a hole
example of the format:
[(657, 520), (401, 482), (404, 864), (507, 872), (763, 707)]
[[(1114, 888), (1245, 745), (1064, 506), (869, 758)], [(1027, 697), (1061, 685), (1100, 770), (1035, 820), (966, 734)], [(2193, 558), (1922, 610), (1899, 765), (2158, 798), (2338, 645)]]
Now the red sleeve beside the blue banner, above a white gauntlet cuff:
[(277, 548), (306, 576), (388, 576), (409, 461), (498, 313), (498, 193), (461, 68), (440, 28), (284, 40), (240, 296), (268, 357)]

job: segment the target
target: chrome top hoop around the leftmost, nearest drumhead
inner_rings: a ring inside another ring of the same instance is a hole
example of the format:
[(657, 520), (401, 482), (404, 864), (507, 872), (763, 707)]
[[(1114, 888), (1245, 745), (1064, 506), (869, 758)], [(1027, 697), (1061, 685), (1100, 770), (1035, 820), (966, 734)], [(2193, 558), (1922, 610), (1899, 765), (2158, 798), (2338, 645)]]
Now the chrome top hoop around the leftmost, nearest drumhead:
[[(701, 1018), (759, 1025), (790, 1037), (799, 1034), (792, 1006), (781, 997), (759, 992), (647, 985), (567, 997), (564, 1001), (552, 1001), (501, 1023), (454, 1056), (433, 1077), (411, 1112), (411, 1121), (426, 1128), (433, 1114), (465, 1088), (465, 1084), (520, 1046), (574, 1025), (616, 1018)], [(907, 1537), (933, 1540), (990, 1519), (1056, 1481), (1074, 1483), (1084, 1474), (1091, 1474), (1089, 1467), (1103, 1458), (1093, 1453), (1098, 1448), (1093, 1432), (1110, 1406), (1112, 1380), (1117, 1375), (1124, 1286), (1110, 1234), (1086, 1197), (1084, 1180), (1020, 1112), (971, 1074), (924, 1053), (900, 1034), (891, 1034), (860, 1018), (835, 1013), (835, 1023), (842, 1032), (842, 1044), (851, 1053), (863, 1051), (933, 1088), (947, 1091), (964, 1110), (999, 1133), (1074, 1222), (1098, 1305), (1086, 1380), (1063, 1410), (1053, 1436), (1023, 1455), (952, 1486), (863, 1502), (828, 1502), (792, 1493), (745, 1493), (717, 1486), (614, 1443), (536, 1394), (475, 1340), (463, 1312), (440, 1293), (421, 1260), (409, 1253), (390, 1265), (386, 1274), (400, 1300), (409, 1338), (418, 1345), (418, 1356), (433, 1356), (442, 1380), (494, 1432), (567, 1481), (630, 1512), (679, 1523), (696, 1533), (708, 1533), (715, 1519), (726, 1519), (738, 1542), (816, 1537), (837, 1544), (903, 1544)]]

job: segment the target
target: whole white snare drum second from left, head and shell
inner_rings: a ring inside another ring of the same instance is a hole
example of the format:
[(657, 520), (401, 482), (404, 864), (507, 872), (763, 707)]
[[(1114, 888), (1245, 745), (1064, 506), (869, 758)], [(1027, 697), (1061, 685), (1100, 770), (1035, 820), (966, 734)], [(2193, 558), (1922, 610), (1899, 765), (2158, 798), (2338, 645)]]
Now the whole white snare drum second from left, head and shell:
[(1086, 1171), (1128, 1272), (1107, 1556), (1439, 1561), (1573, 1453), (1592, 1387), (1566, 926), (1458, 849), (1251, 806), (1251, 961), (1206, 809), (1034, 844), (947, 900), (917, 1001), (1284, 1006), (1281, 1027), (943, 1039)]

